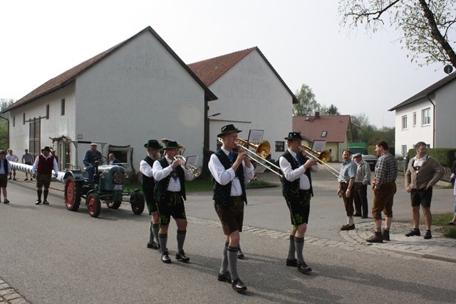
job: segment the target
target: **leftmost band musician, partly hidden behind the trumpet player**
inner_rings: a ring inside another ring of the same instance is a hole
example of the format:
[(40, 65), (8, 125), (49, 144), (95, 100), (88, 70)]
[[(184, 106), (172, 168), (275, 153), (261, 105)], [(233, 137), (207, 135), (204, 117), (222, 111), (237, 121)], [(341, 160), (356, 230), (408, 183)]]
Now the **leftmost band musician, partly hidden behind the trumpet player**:
[[(152, 167), (154, 162), (160, 159), (160, 150), (163, 147), (157, 140), (149, 140), (144, 147), (147, 149), (147, 156), (140, 162), (142, 193), (144, 194), (149, 215), (152, 216), (149, 225), (149, 241), (147, 241), (147, 248), (158, 249), (160, 248), (160, 242), (158, 241), (160, 218), (158, 217), (157, 201), (155, 201), (154, 196), (155, 179), (153, 177)], [(154, 238), (156, 241), (154, 241)]]

